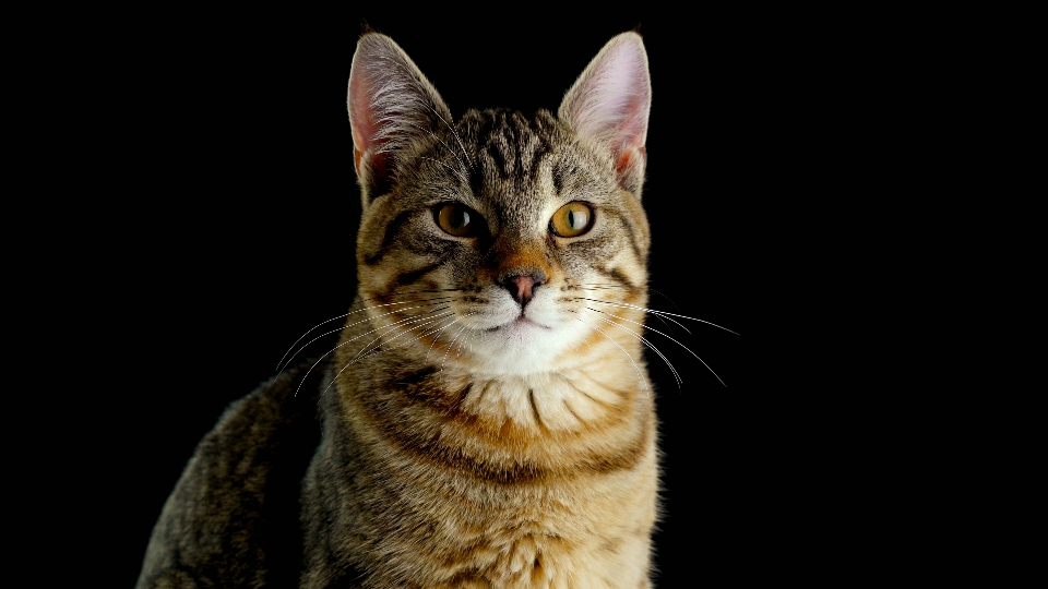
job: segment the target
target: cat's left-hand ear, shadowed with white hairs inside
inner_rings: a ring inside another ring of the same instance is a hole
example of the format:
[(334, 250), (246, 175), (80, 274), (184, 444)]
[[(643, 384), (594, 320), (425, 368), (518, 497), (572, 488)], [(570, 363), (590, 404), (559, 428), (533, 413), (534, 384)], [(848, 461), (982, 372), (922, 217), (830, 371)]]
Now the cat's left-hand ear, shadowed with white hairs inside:
[(357, 43), (346, 99), (354, 167), (365, 208), (390, 191), (405, 152), (451, 111), (415, 62), (393, 39), (367, 33)]

